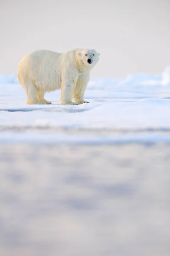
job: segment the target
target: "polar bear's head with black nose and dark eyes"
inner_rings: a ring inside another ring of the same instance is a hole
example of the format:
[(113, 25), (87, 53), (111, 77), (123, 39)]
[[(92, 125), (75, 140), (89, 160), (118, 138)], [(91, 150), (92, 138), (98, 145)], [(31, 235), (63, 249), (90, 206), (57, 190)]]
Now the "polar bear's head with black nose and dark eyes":
[(82, 58), (82, 61), (85, 65), (94, 66), (99, 61), (100, 53), (96, 52), (95, 49), (82, 49), (79, 52), (79, 57)]

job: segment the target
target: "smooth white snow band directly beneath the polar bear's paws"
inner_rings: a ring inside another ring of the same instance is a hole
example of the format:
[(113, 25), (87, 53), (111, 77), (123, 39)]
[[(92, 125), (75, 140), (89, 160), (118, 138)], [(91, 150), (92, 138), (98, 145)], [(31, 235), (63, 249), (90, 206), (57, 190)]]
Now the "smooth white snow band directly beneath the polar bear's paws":
[[(87, 98), (91, 101), (90, 98)], [(57, 102), (57, 104), (59, 104)], [(80, 106), (37, 108), (3, 105), (1, 127), (64, 127), (100, 129), (170, 128), (169, 99), (141, 99), (135, 102), (92, 102)]]

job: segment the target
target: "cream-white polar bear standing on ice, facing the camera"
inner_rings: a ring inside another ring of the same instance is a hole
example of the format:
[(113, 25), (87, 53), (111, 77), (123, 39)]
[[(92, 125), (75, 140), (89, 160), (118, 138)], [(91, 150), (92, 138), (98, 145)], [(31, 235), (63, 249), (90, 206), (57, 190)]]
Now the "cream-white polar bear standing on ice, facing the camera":
[(51, 104), (44, 94), (58, 89), (62, 105), (85, 103), (90, 71), (99, 55), (95, 49), (74, 49), (66, 53), (36, 50), (24, 56), (18, 64), (18, 81), (26, 92), (26, 104)]

